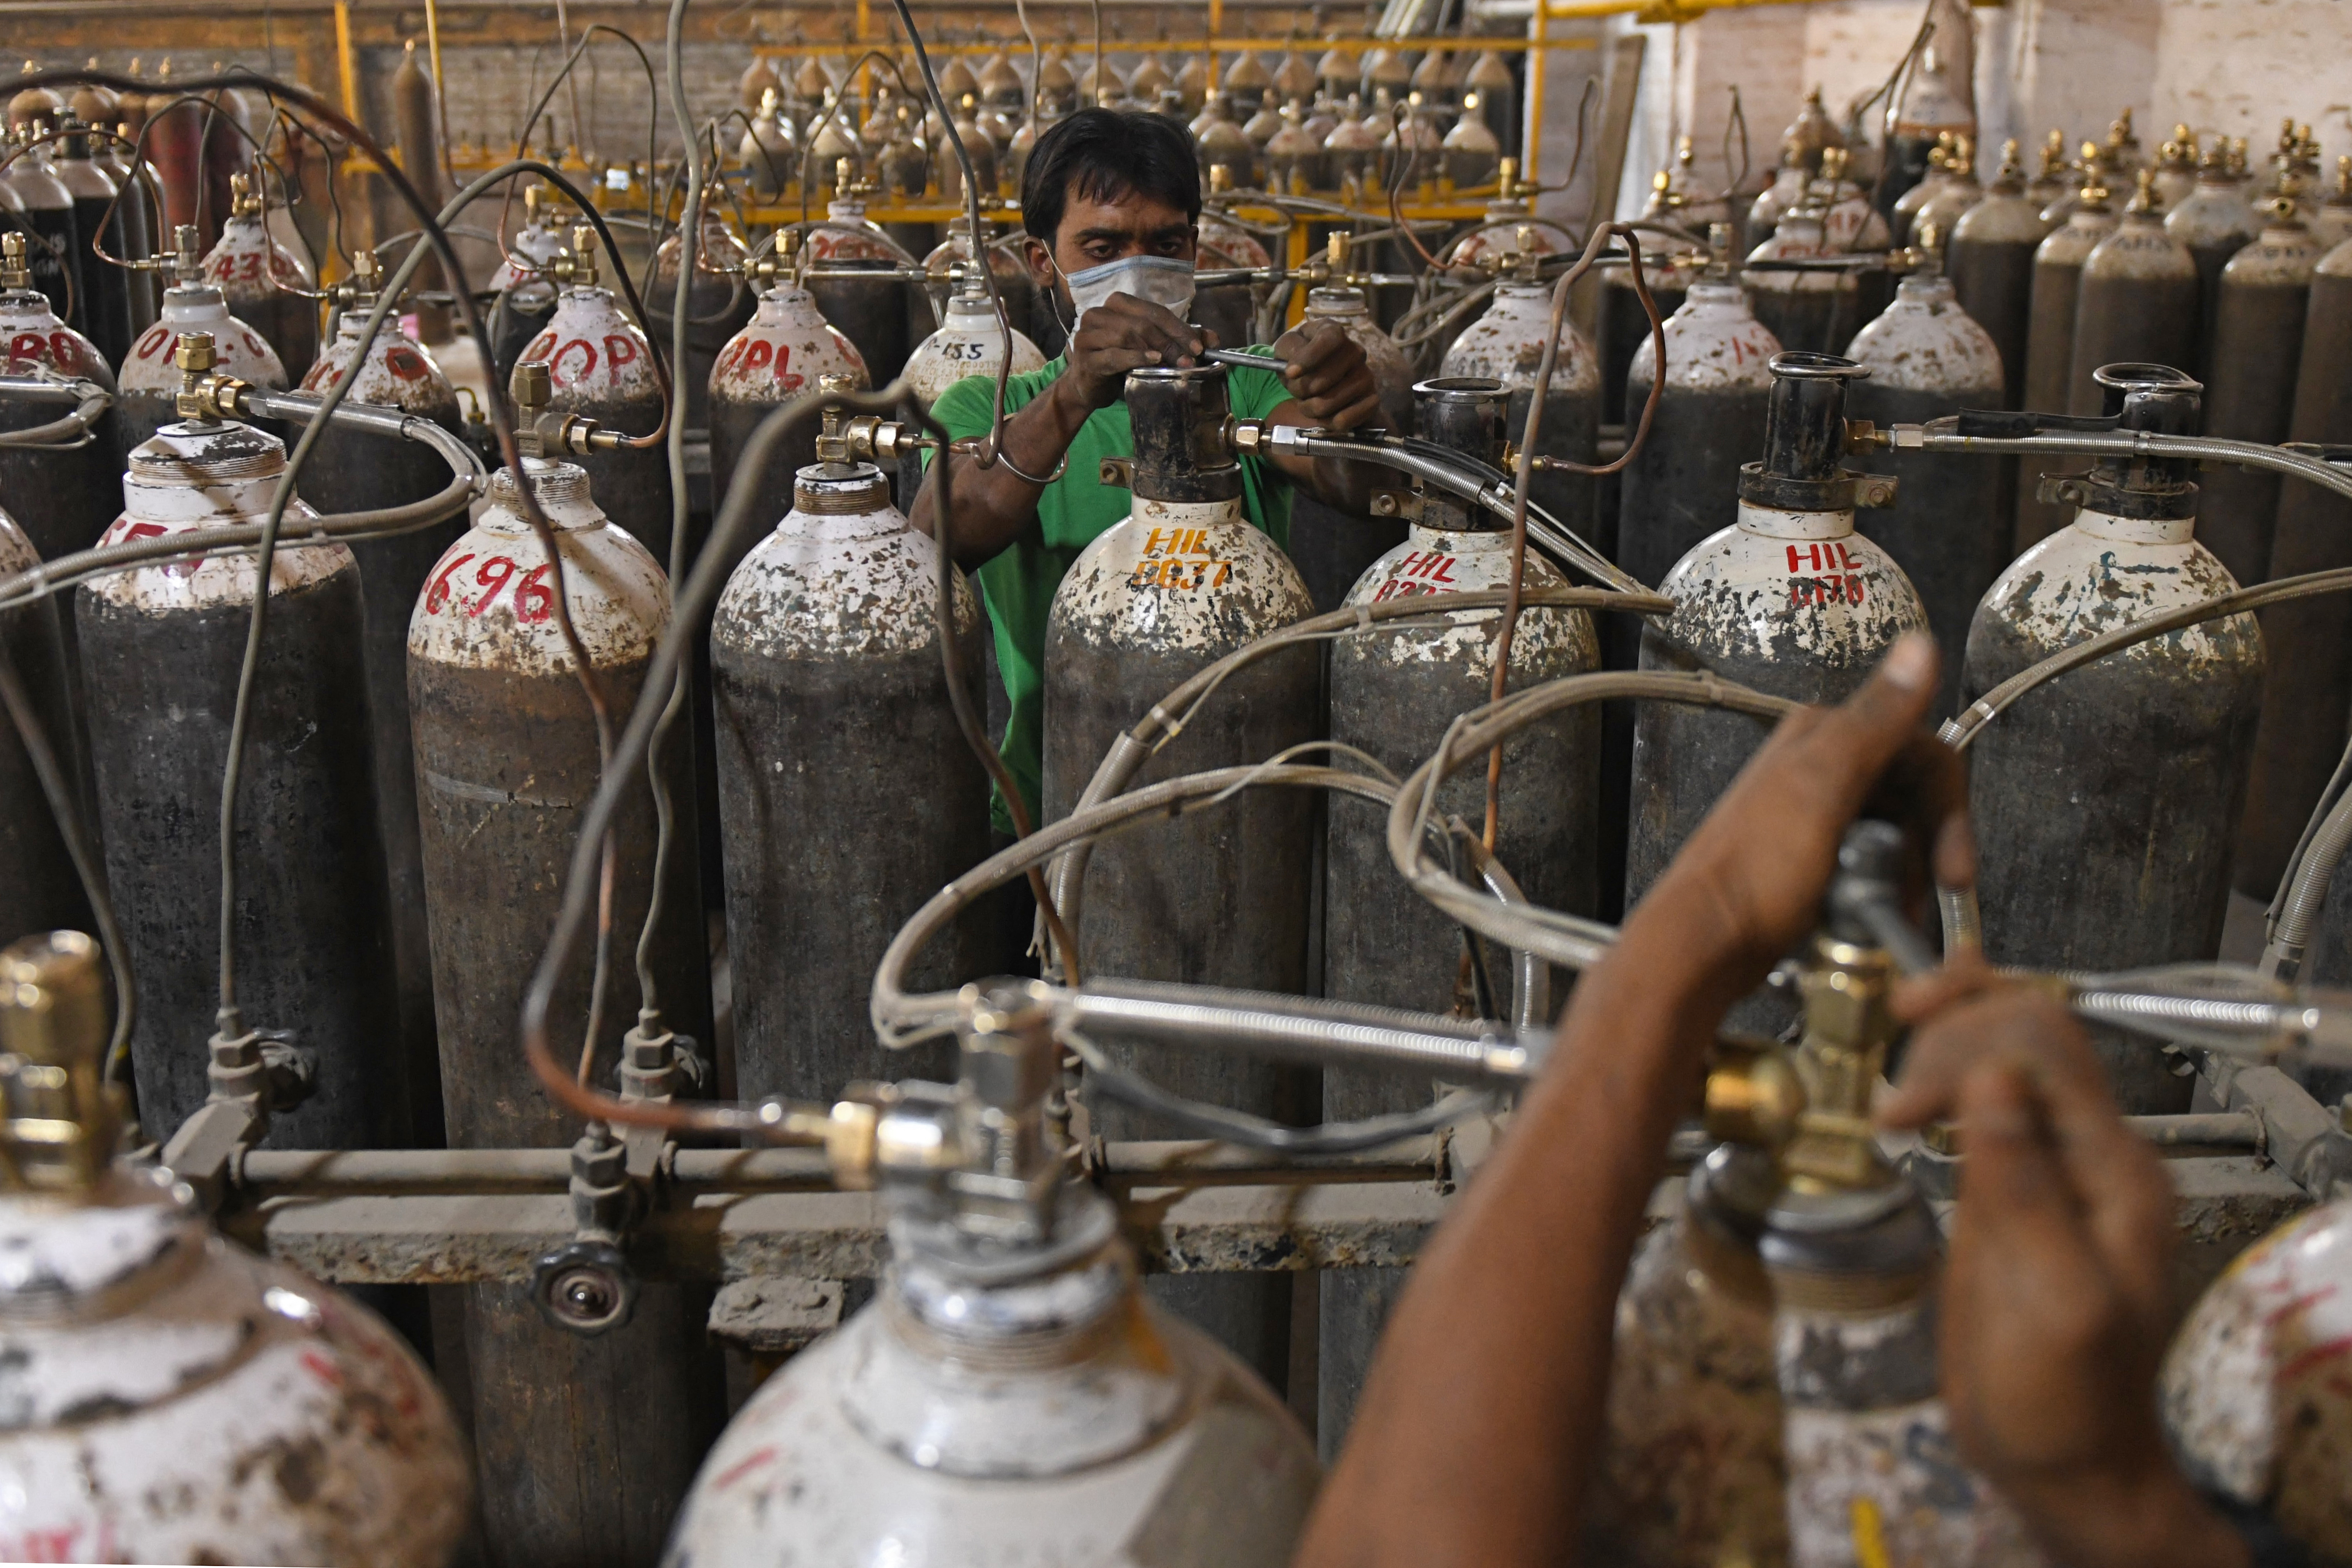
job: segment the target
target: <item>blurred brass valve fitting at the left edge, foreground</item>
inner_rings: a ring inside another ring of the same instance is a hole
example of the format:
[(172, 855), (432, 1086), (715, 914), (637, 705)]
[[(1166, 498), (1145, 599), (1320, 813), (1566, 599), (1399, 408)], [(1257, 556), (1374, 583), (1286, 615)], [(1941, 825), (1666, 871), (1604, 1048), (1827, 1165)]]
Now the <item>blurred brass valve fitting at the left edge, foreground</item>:
[(61, 1194), (99, 1185), (122, 1128), (103, 1065), (99, 945), (49, 931), (0, 952), (0, 1185)]

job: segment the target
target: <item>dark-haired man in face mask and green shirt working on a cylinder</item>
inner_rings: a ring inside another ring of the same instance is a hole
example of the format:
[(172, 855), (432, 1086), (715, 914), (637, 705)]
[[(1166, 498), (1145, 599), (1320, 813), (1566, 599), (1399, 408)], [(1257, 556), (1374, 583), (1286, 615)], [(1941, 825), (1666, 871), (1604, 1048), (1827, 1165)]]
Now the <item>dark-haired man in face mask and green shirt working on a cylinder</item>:
[[(997, 628), (997, 668), (1011, 719), (1004, 764), (1037, 813), (1044, 748), (1044, 625), (1063, 571), (1094, 538), (1127, 517), (1124, 489), (1098, 482), (1101, 458), (1131, 456), (1122, 393), (1127, 371), (1192, 364), (1216, 334), (1188, 327), (1192, 247), (1200, 223), (1200, 162), (1181, 125), (1150, 113), (1082, 108), (1044, 136), (1021, 179), (1028, 266), (1061, 320), (1077, 322), (1061, 360), (1004, 388), (1004, 449), (981, 468), (953, 454), (955, 562), (974, 574)], [(1174, 308), (1171, 308), (1174, 306)], [(1291, 329), (1268, 369), (1232, 369), (1235, 418), (1352, 430), (1378, 421), (1381, 395), (1364, 350), (1329, 322)], [(985, 442), (995, 378), (948, 388), (931, 414), (955, 440)], [(1289, 541), (1291, 484), (1336, 508), (1364, 512), (1369, 470), (1291, 456), (1242, 458), (1242, 512)], [(915, 498), (913, 522), (934, 527), (934, 484)], [(1002, 813), (997, 827), (1011, 823)]]

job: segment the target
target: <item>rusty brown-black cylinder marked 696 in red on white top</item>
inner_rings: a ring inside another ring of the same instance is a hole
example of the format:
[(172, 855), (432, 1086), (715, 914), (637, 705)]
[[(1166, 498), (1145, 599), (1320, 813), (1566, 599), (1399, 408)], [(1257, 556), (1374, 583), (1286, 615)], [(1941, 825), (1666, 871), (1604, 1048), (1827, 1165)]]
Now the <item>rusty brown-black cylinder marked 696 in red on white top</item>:
[[(517, 402), (536, 402), (529, 369)], [(534, 409), (536, 411), (536, 409)], [(670, 618), (661, 564), (614, 527), (574, 463), (524, 458), (555, 529), (562, 592), (614, 712), (640, 696)], [(433, 933), (449, 1147), (569, 1145), (515, 1044), (522, 992), (597, 780), (595, 719), (555, 623), (548, 559), (522, 517), (513, 470), (492, 475), (475, 527), (449, 545), (416, 602), (409, 715), (419, 837)], [(673, 849), (694, 844), (689, 752), (673, 736)], [(604, 1018), (637, 1016), (628, 954), (654, 893), (654, 795), (633, 785), (614, 818), (614, 964)], [(708, 1039), (701, 900), (691, 856), (670, 856), (652, 971), (673, 1030)], [(590, 961), (555, 990), (548, 1027), (579, 1039)], [(607, 1046), (607, 1041), (597, 1041)], [(609, 1060), (609, 1058), (607, 1058)], [(720, 1368), (703, 1338), (708, 1291), (647, 1284), (623, 1328), (593, 1340), (546, 1324), (524, 1284), (466, 1291), (473, 1448), (482, 1528), (501, 1563), (642, 1563), (720, 1427)], [(626, 1486), (614, 1469), (626, 1467)]]

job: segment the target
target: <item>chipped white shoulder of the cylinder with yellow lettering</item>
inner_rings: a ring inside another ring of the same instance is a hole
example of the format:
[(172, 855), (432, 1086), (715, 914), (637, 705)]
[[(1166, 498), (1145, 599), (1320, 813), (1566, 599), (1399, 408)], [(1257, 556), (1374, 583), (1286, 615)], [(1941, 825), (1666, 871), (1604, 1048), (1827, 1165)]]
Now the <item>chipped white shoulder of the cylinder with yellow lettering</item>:
[(1298, 567), (1242, 520), (1240, 501), (1138, 496), (1070, 562), (1049, 635), (1211, 656), (1312, 614)]

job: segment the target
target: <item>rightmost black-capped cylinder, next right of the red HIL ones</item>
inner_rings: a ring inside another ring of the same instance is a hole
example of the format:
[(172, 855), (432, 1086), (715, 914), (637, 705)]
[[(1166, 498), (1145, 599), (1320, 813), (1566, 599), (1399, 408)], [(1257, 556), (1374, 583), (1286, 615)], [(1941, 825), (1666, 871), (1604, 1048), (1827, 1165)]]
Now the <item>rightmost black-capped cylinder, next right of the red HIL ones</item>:
[[(2126, 430), (2197, 430), (2199, 388), (2176, 369), (2110, 364), (2098, 383)], [(1985, 595), (1966, 698), (2074, 642), (2237, 588), (2194, 538), (2185, 468), (2100, 461), (2063, 480), (2079, 512)], [(2025, 693), (1976, 736), (1985, 957), (2110, 971), (2218, 952), (2263, 663), (2253, 616), (2201, 621)], [(2190, 1079), (2143, 1039), (2096, 1030), (2093, 1044), (2126, 1112), (2187, 1107)]]

